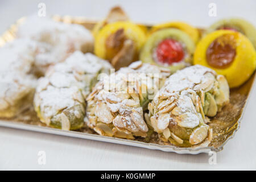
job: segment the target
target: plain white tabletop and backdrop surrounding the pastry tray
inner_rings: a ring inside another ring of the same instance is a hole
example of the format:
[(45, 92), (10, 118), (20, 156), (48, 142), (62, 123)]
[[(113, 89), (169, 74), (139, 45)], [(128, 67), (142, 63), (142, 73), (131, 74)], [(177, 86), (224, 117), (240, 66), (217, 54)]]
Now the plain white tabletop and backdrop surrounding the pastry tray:
[[(47, 15), (76, 15), (103, 18), (110, 7), (122, 5), (136, 22), (157, 23), (183, 20), (207, 27), (217, 19), (237, 16), (256, 24), (256, 1), (0, 1), (0, 34), (24, 15), (37, 13), (46, 3)], [(208, 15), (208, 5), (217, 5), (217, 16)], [(3, 61), (3, 60), (1, 60)], [(239, 74), (239, 73), (238, 73)], [(242, 125), (234, 139), (217, 153), (217, 164), (208, 154), (179, 155), (92, 140), (61, 137), (0, 127), (0, 169), (256, 169), (256, 94), (246, 107)], [(46, 165), (38, 164), (38, 152), (46, 152)]]

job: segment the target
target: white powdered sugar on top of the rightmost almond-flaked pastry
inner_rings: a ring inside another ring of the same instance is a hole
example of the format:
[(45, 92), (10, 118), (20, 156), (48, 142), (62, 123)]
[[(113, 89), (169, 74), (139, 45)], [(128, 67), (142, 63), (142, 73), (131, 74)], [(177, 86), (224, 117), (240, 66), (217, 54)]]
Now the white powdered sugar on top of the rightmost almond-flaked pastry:
[[(211, 76), (207, 75), (209, 73)], [(166, 80), (163, 88), (159, 90), (152, 104), (158, 106), (160, 104), (159, 102), (175, 97), (174, 111), (172, 109), (169, 111), (174, 114), (172, 115), (172, 119), (180, 127), (193, 129), (203, 121), (203, 118), (200, 111), (196, 110), (192, 99), (195, 100), (194, 97), (197, 95), (197, 89), (200, 89), (200, 86), (202, 86), (199, 84), (210, 82), (210, 79), (214, 81), (214, 77), (216, 77), (216, 73), (212, 69), (201, 65), (194, 65), (177, 71)], [(171, 115), (169, 115), (169, 118), (171, 118)], [(158, 119), (158, 125), (159, 127), (166, 126), (165, 122), (160, 119)]]

